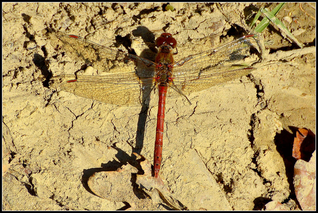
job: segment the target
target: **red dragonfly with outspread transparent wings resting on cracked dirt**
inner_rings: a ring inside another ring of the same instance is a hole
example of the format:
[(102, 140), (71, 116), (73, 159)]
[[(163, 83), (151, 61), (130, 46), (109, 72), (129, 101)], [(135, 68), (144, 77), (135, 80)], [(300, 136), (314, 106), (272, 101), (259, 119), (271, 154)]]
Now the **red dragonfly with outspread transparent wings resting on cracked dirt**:
[[(177, 41), (162, 33), (155, 41), (158, 49), (154, 62), (133, 54), (101, 46), (75, 35), (51, 34), (51, 44), (62, 46), (74, 60), (92, 65), (104, 76), (60, 75), (61, 90), (75, 95), (121, 106), (142, 106), (151, 91), (158, 92), (158, 113), (154, 150), (154, 176), (162, 160), (162, 137), (166, 97), (187, 98), (191, 92), (249, 74), (253, 67), (240, 65), (251, 47), (262, 54), (257, 35), (246, 35), (218, 48), (193, 54), (190, 49), (177, 51)], [(216, 36), (207, 37), (215, 39)], [(205, 48), (206, 49), (206, 48)], [(175, 52), (174, 52), (175, 51)], [(183, 59), (174, 60), (174, 55)], [(149, 100), (149, 99), (148, 99)]]

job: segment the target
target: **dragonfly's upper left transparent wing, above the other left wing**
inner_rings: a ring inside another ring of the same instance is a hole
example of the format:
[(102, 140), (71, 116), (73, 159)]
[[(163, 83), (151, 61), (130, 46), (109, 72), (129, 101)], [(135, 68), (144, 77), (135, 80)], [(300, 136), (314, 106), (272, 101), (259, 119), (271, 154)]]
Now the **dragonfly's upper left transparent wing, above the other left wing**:
[(135, 67), (138, 67), (148, 70), (147, 74), (154, 75), (156, 68), (154, 62), (120, 50), (101, 46), (79, 36), (66, 35), (56, 31), (50, 33), (50, 41), (53, 47), (56, 47), (56, 45), (63, 47), (73, 60), (91, 65), (102, 72), (134, 72)]

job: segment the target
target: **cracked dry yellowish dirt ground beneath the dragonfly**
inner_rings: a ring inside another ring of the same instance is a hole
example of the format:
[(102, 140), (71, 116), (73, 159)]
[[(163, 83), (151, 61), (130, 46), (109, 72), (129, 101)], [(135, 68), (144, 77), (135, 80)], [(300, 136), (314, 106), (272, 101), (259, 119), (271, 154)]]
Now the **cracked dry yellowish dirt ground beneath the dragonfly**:
[[(144, 189), (126, 202), (90, 190), (90, 176), (133, 165), (132, 152), (153, 161), (157, 103), (145, 111), (57, 92), (51, 77), (73, 74), (83, 63), (55, 50), (45, 34), (51, 27), (138, 55), (162, 32), (178, 43), (216, 33), (220, 42), (238, 38), (248, 32), (236, 17), (276, 3), (223, 3), (223, 13), (214, 3), (172, 5), (176, 10), (162, 3), (3, 3), (3, 210), (125, 210), (133, 202), (169, 210), (138, 196)], [(270, 24), (262, 35), (274, 40), (265, 51), (273, 64), (191, 94), (192, 105), (167, 99), (159, 175), (189, 210), (259, 210), (271, 200), (300, 209), (294, 133), (316, 133), (315, 10), (302, 8), (306, 13), (286, 3), (277, 17), (306, 53)], [(131, 187), (135, 173), (128, 173)]]

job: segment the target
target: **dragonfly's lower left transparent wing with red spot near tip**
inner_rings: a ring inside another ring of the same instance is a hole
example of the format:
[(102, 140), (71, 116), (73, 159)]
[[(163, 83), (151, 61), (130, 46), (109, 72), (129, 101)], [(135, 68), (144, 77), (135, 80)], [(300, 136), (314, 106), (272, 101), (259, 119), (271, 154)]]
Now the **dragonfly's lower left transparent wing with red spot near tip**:
[(106, 76), (60, 75), (53, 80), (55, 85), (62, 82), (60, 90), (120, 106), (141, 106), (154, 83), (153, 78), (140, 79), (134, 72)]

